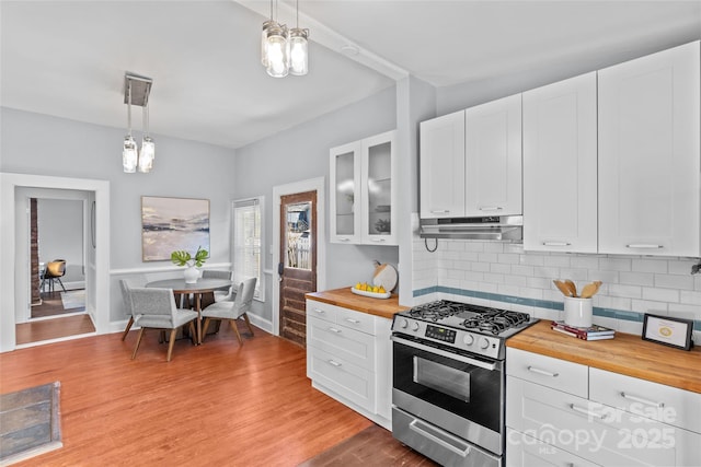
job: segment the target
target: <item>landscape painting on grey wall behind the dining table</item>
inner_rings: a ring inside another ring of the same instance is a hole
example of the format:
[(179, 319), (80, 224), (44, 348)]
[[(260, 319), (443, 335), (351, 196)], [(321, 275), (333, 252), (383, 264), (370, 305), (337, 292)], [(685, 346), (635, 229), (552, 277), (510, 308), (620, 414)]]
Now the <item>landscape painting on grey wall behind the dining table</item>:
[(141, 256), (145, 261), (171, 259), (184, 249), (209, 252), (209, 200), (141, 197)]

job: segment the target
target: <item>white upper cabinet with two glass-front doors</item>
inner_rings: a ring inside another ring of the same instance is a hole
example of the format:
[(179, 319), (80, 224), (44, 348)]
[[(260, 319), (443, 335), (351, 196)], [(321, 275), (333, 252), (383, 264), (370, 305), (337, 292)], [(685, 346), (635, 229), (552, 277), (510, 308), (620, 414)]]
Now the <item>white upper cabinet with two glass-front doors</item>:
[(397, 131), (330, 150), (331, 242), (397, 245)]

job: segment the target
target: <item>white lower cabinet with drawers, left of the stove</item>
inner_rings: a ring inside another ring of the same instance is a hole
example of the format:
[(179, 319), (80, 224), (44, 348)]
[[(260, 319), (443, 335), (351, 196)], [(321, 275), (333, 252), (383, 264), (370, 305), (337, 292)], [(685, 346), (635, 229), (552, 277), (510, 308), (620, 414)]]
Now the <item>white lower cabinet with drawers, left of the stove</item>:
[(391, 320), (307, 301), (312, 386), (391, 430)]

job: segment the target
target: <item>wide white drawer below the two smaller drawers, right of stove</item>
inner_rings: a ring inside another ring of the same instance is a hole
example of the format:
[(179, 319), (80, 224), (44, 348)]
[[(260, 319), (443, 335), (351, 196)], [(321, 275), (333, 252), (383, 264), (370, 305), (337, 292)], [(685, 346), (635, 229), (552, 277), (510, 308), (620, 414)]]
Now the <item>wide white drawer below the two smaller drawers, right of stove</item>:
[(507, 385), (507, 425), (516, 431), (594, 464), (689, 465), (691, 432), (513, 376)]

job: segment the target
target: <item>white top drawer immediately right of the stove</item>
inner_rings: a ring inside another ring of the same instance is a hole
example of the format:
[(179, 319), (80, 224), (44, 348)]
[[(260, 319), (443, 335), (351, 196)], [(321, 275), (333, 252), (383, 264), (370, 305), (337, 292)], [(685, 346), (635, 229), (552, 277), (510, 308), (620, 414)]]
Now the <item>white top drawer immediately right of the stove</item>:
[(586, 365), (519, 349), (506, 349), (506, 374), (575, 396), (588, 397), (588, 373)]

